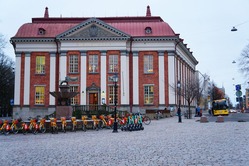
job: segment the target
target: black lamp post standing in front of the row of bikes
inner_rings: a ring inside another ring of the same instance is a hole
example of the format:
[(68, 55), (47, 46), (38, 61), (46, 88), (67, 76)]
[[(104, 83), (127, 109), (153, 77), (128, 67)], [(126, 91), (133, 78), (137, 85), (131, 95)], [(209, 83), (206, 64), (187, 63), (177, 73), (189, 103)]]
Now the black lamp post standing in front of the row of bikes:
[(114, 74), (112, 77), (114, 82), (114, 124), (113, 124), (113, 133), (118, 132), (118, 123), (117, 123), (117, 82), (118, 82), (118, 75)]

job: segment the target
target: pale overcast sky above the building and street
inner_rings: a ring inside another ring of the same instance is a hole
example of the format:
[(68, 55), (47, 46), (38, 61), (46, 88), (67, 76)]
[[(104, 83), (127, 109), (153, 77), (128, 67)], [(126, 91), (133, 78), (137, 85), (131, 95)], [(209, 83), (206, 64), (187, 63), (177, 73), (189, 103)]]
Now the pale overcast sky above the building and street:
[[(9, 41), (18, 28), (43, 17), (161, 16), (199, 61), (197, 69), (207, 74), (235, 103), (233, 84), (248, 88), (238, 72), (240, 53), (249, 44), (249, 0), (0, 0), (0, 33)], [(231, 32), (233, 26), (237, 32)], [(15, 58), (11, 44), (4, 50)], [(233, 79), (234, 78), (234, 79)], [(243, 91), (244, 92), (244, 91)]]

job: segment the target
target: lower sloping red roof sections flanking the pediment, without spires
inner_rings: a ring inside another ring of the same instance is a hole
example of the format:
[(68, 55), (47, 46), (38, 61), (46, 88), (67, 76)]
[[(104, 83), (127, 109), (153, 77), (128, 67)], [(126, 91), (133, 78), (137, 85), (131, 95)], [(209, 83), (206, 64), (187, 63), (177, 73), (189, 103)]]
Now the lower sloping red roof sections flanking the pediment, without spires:
[[(14, 37), (55, 37), (79, 23), (27, 23), (22, 25)], [(175, 36), (172, 28), (165, 22), (111, 22), (108, 25), (133, 37)], [(145, 28), (151, 27), (152, 33), (146, 34)], [(45, 35), (38, 35), (39, 28), (46, 30)]]

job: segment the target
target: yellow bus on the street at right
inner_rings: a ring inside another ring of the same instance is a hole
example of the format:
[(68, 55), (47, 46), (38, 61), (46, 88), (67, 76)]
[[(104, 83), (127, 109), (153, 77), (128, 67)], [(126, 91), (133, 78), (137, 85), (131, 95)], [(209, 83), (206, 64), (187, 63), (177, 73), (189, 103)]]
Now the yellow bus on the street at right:
[(212, 103), (212, 113), (216, 115), (229, 115), (226, 99), (214, 100)]

